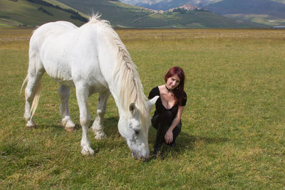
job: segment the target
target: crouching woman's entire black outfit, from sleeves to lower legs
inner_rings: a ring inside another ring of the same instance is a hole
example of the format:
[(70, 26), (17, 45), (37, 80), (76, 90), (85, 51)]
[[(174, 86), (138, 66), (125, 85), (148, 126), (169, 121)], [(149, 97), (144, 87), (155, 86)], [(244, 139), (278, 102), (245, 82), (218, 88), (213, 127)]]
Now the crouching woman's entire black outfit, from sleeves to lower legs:
[[(152, 97), (160, 96), (160, 90), (157, 87), (152, 88), (150, 91), (150, 94), (148, 95), (148, 99), (152, 99)], [(187, 95), (184, 92), (183, 93), (184, 98), (182, 99), (182, 102), (180, 106), (185, 106), (187, 102)], [(162, 105), (161, 98), (159, 97), (157, 101), (155, 102), (155, 114), (152, 116), (152, 126), (155, 127), (157, 130), (157, 137), (155, 140), (155, 148), (160, 148), (162, 142), (165, 142), (165, 133), (169, 129), (170, 125), (172, 124), (172, 121), (175, 119), (177, 112), (178, 112), (179, 105), (176, 103), (173, 105), (170, 109), (166, 109), (164, 105)], [(175, 139), (180, 134), (182, 127), (181, 120), (179, 124), (174, 128), (172, 131), (173, 133), (173, 140), (170, 143), (170, 145), (175, 144)]]

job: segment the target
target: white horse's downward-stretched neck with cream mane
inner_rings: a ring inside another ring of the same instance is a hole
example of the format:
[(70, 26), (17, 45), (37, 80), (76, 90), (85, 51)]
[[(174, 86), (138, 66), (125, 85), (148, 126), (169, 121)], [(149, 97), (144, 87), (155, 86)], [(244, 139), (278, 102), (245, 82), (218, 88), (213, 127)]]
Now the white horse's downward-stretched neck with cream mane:
[[(138, 73), (136, 72), (135, 65), (133, 65), (133, 62), (128, 55), (128, 51), (125, 49), (125, 46), (120, 41), (117, 34), (112, 33), (112, 31), (105, 33), (104, 30), (98, 31), (98, 33), (97, 47), (99, 53), (98, 57), (100, 70), (108, 83), (110, 92), (115, 99), (120, 116), (125, 114), (128, 115), (129, 101), (135, 99), (133, 98), (133, 94), (140, 89), (136, 86), (140, 84)], [(133, 78), (126, 78), (125, 75), (128, 74), (131, 74)], [(135, 89), (129, 85), (135, 86)], [(123, 95), (120, 92), (121, 89), (125, 90)], [(132, 94), (131, 99), (128, 98), (128, 95), (130, 94)], [(135, 101), (136, 100), (134, 100), (134, 102)]]

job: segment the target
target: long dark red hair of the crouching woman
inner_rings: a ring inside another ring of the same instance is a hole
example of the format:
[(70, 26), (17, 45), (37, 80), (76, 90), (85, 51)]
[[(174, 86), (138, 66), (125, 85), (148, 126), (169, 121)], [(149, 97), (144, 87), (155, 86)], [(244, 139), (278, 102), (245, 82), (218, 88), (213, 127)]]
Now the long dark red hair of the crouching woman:
[(168, 70), (168, 72), (165, 75), (165, 83), (167, 82), (167, 79), (172, 77), (173, 75), (177, 75), (180, 78), (180, 83), (177, 86), (177, 88), (175, 88), (175, 90), (173, 90), (173, 93), (175, 95), (176, 100), (178, 101), (178, 105), (181, 105), (181, 102), (184, 98), (184, 80), (185, 80), (185, 74), (184, 71), (182, 70), (182, 68), (180, 67), (173, 67), (170, 68), (170, 70)]

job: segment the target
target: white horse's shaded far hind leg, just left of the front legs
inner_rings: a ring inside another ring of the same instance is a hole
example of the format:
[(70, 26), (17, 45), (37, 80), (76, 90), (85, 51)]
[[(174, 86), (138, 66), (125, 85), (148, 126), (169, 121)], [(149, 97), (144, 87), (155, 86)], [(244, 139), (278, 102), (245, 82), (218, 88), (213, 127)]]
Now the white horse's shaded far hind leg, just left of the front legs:
[(61, 87), (58, 90), (58, 94), (61, 97), (61, 105), (59, 106), (59, 111), (61, 112), (62, 115), (61, 122), (67, 132), (72, 132), (76, 127), (74, 122), (71, 120), (71, 115), (69, 113), (69, 107), (68, 107), (70, 89), (71, 88), (65, 85), (61, 85)]

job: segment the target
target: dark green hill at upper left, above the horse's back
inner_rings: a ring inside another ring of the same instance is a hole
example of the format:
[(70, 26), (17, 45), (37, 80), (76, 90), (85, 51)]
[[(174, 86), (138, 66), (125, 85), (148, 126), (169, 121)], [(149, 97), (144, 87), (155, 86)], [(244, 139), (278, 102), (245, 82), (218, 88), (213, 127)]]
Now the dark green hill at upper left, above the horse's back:
[(81, 26), (87, 21), (84, 14), (68, 6), (58, 6), (48, 1), (1, 0), (0, 26), (37, 26), (50, 21), (70, 21)]

